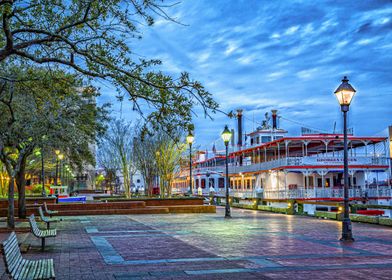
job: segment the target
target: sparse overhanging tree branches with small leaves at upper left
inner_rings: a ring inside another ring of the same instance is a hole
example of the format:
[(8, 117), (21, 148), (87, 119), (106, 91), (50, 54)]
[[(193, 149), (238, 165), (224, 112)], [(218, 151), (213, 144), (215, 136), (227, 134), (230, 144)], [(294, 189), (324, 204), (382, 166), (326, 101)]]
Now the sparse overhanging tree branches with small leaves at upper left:
[(158, 0), (1, 1), (0, 61), (18, 57), (62, 65), (112, 83), (149, 123), (144, 134), (148, 128), (187, 129), (195, 105), (209, 115), (218, 104), (187, 73), (173, 78), (154, 71), (161, 61), (139, 57), (128, 44), (141, 38), (140, 26), (152, 25), (154, 17), (172, 20), (166, 13), (172, 5)]

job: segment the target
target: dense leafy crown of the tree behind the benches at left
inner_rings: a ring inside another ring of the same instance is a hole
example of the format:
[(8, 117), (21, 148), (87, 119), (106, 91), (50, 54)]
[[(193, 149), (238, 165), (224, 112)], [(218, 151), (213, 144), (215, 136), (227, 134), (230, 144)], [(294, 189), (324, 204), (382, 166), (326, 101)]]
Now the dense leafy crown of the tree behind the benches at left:
[(0, 85), (0, 151), (16, 167), (36, 148), (61, 149), (75, 165), (94, 163), (89, 145), (105, 130), (106, 105), (75, 75), (57, 69), (8, 66), (17, 82)]

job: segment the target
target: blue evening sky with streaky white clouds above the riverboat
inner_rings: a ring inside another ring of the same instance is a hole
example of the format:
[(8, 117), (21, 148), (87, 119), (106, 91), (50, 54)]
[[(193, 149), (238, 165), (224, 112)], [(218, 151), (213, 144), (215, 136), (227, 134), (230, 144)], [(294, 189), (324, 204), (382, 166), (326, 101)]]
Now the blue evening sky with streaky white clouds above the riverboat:
[[(291, 135), (300, 124), (340, 128), (333, 91), (344, 75), (357, 90), (349, 113), (355, 134), (386, 134), (392, 125), (391, 1), (184, 0), (168, 13), (184, 25), (158, 18), (132, 49), (161, 59), (165, 72), (189, 72), (222, 110), (244, 109), (246, 132), (271, 109)], [(101, 101), (116, 102), (114, 90), (101, 89)], [(131, 109), (124, 102), (124, 118), (136, 119)], [(222, 114), (213, 118), (194, 118), (199, 145), (211, 148), (225, 124), (235, 127)]]

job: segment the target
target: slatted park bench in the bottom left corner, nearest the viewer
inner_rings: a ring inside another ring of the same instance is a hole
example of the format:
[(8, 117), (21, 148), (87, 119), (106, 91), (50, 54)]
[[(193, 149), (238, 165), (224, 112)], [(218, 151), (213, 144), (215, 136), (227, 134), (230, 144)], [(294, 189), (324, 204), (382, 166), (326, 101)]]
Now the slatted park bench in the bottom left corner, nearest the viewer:
[(11, 279), (55, 279), (53, 259), (26, 260), (20, 253), (15, 232), (1, 246), (6, 273)]

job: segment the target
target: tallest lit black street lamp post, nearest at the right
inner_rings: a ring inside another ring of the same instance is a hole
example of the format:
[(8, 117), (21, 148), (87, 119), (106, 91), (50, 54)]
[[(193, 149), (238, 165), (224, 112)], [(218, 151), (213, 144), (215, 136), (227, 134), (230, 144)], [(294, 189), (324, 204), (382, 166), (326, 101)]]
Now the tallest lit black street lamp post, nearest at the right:
[(344, 76), (342, 83), (335, 90), (335, 96), (338, 99), (341, 110), (343, 112), (343, 133), (344, 133), (344, 216), (342, 225), (342, 238), (340, 241), (354, 241), (352, 234), (352, 226), (349, 214), (349, 198), (348, 198), (348, 152), (347, 152), (347, 112), (350, 107), (351, 100), (356, 90), (348, 83), (348, 79)]

